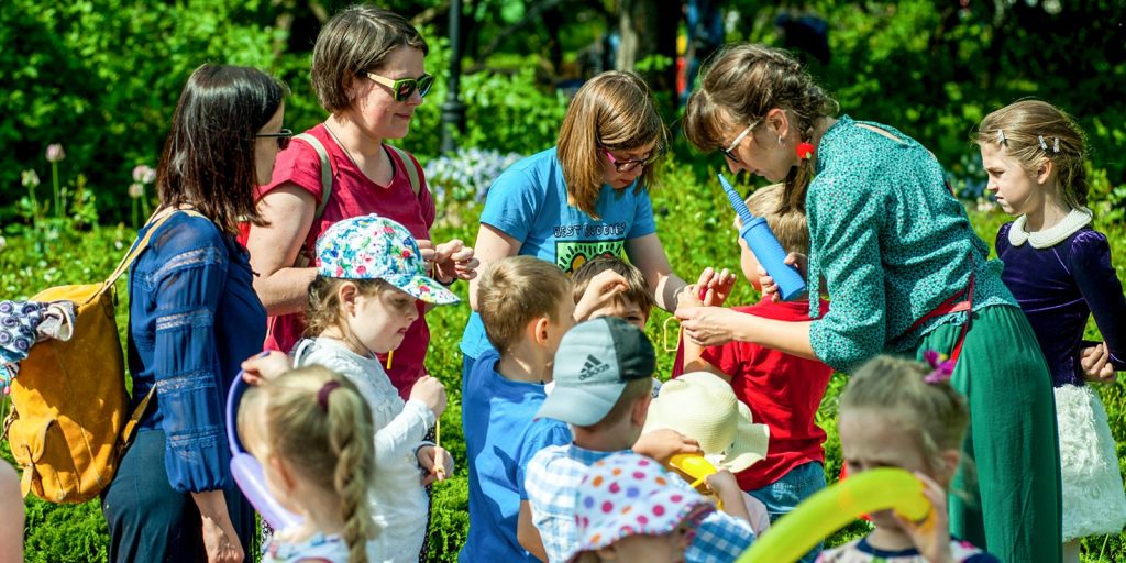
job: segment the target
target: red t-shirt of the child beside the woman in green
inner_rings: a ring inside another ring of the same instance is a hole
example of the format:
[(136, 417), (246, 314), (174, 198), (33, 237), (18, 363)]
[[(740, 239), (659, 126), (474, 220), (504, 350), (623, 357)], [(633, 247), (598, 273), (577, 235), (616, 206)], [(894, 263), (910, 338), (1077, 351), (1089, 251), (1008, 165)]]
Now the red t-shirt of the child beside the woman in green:
[[(810, 319), (806, 301), (775, 303), (763, 300), (756, 305), (733, 307), (740, 313), (799, 322)], [(821, 301), (821, 315), (829, 303)], [(673, 377), (683, 370), (683, 351), (677, 351)], [(825, 387), (833, 375), (825, 364), (783, 354), (763, 346), (730, 342), (704, 349), (703, 359), (731, 375), (735, 396), (751, 409), (754, 422), (770, 428), (767, 458), (735, 474), (744, 491), (761, 489), (794, 467), (808, 462), (825, 461), (821, 445), (825, 432), (814, 417)]]

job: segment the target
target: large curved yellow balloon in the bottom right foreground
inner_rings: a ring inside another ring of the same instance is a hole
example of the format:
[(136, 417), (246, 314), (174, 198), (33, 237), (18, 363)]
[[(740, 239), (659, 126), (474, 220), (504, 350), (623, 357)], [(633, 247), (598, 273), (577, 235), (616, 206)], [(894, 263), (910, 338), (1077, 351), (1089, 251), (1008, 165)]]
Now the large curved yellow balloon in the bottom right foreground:
[(860, 515), (888, 508), (915, 521), (931, 510), (922, 483), (906, 471), (881, 467), (849, 475), (779, 518), (735, 563), (793, 563)]

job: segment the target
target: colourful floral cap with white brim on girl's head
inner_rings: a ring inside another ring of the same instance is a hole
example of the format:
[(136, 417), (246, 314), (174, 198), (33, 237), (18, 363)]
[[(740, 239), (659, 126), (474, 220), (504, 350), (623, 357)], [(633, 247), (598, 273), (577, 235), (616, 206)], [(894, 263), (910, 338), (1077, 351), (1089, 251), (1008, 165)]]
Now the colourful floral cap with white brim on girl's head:
[(437, 305), (459, 301), (427, 276), (426, 260), (406, 227), (375, 214), (346, 218), (321, 233), (316, 272), (330, 278), (383, 279)]

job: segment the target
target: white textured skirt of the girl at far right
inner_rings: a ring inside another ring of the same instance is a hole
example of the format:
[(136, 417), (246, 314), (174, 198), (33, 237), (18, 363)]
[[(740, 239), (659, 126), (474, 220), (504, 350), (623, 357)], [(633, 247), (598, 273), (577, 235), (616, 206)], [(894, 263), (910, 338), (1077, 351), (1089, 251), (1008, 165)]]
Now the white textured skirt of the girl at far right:
[(1126, 490), (1107, 411), (1090, 386), (1055, 388), (1063, 476), (1063, 540), (1117, 534), (1126, 526)]

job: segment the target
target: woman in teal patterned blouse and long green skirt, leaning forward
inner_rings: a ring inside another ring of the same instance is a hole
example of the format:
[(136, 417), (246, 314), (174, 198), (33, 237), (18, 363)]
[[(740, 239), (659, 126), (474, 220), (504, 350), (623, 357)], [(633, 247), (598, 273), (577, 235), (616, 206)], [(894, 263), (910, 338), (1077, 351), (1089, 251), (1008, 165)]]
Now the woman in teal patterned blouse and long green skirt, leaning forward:
[[(832, 304), (820, 318), (811, 309), (804, 323), (683, 307), (686, 336), (704, 346), (753, 342), (842, 372), (882, 352), (950, 356), (976, 468), (976, 479), (955, 477), (951, 534), (1002, 561), (1058, 562), (1052, 378), (935, 155), (895, 128), (835, 117), (837, 101), (783, 51), (733, 45), (701, 77), (685, 115), (688, 140), (723, 151), (732, 171), (785, 181), (783, 206), (804, 211), (810, 230), (807, 267), (805, 257), (787, 261), (807, 270), (811, 288), (823, 284)], [(769, 277), (763, 291), (777, 296)]]

